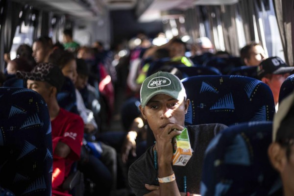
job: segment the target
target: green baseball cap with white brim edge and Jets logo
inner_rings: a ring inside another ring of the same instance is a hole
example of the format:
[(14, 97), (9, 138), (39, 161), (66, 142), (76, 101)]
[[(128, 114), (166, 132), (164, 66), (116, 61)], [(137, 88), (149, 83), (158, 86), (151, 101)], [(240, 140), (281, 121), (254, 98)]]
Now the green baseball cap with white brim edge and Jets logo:
[(181, 80), (168, 72), (153, 73), (144, 80), (140, 91), (142, 107), (157, 94), (166, 94), (177, 100), (187, 98)]

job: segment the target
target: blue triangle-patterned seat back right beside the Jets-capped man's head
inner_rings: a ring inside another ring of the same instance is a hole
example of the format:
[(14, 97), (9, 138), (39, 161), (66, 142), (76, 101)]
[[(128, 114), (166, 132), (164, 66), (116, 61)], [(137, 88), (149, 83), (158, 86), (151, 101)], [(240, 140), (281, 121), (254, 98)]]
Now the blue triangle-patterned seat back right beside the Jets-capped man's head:
[(186, 124), (272, 121), (275, 113), (268, 85), (237, 75), (193, 76), (182, 80), (190, 99)]

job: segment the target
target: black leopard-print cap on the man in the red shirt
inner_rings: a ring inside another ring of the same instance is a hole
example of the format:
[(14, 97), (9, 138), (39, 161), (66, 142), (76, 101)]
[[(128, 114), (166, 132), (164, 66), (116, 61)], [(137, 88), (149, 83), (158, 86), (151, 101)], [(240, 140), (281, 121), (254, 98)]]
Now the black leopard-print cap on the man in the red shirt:
[(31, 72), (17, 71), (16, 76), (23, 79), (46, 81), (56, 87), (58, 92), (61, 90), (65, 80), (61, 70), (52, 63), (40, 63)]

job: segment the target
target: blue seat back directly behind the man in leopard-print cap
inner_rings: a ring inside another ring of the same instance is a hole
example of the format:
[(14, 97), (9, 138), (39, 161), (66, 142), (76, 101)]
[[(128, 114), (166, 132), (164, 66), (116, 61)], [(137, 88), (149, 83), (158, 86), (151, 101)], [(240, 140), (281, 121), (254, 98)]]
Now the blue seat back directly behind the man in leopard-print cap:
[(57, 101), (61, 108), (79, 114), (76, 108), (75, 87), (70, 78), (65, 77), (61, 91), (57, 94)]

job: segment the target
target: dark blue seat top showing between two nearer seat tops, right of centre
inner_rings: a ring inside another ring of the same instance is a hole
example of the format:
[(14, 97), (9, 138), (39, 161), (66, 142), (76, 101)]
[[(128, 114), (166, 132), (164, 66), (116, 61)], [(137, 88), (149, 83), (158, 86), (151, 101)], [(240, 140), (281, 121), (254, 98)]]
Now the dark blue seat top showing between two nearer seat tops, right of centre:
[(203, 66), (215, 67), (222, 74), (227, 74), (236, 67), (242, 66), (240, 57), (219, 58), (213, 57), (203, 63)]

